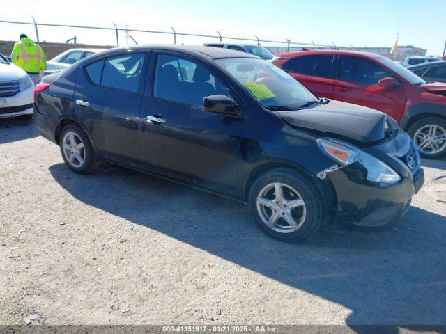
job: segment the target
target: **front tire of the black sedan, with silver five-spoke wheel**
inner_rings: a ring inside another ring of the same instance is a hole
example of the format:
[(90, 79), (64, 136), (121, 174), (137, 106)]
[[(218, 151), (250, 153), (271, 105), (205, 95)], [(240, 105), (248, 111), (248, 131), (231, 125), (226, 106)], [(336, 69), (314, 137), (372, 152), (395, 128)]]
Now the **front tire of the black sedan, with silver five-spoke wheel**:
[[(282, 189), (284, 199), (278, 205), (276, 184), (282, 184), (279, 189)], [(258, 177), (249, 191), (248, 205), (263, 232), (281, 241), (307, 239), (323, 225), (325, 207), (321, 193), (312, 180), (291, 168), (277, 168)], [(274, 205), (277, 211), (273, 212)], [(286, 209), (287, 205), (293, 205), (293, 208)], [(279, 218), (274, 225), (268, 225), (267, 220), (273, 213)], [(289, 223), (290, 215), (293, 227)]]

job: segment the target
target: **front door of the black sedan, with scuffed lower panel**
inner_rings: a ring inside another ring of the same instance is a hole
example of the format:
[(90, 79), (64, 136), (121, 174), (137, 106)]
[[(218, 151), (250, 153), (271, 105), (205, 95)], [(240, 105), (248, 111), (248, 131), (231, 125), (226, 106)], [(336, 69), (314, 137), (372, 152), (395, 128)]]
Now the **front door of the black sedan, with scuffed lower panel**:
[(229, 89), (194, 58), (152, 58), (139, 125), (143, 166), (233, 191), (243, 120), (203, 109), (203, 97)]

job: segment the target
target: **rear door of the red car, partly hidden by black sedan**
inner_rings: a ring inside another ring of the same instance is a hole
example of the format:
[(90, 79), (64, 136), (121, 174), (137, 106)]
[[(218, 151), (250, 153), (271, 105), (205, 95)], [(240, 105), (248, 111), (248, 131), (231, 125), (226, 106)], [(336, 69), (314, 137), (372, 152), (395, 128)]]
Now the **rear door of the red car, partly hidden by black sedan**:
[(333, 97), (333, 58), (329, 54), (299, 56), (286, 62), (282, 69), (321, 97)]

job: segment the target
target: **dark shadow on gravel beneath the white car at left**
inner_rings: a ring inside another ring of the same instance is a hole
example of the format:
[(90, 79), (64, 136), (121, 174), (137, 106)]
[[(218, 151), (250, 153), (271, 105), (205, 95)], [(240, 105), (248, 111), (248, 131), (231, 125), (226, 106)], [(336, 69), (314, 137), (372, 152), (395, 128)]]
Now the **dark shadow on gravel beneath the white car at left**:
[(38, 136), (32, 119), (0, 118), (0, 144), (23, 141)]

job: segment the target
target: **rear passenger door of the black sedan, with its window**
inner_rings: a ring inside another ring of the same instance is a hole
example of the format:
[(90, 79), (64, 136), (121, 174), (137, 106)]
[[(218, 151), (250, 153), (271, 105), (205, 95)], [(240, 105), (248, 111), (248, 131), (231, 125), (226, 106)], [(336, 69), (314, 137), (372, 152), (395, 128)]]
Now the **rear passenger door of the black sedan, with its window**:
[(139, 163), (139, 109), (147, 58), (146, 51), (138, 50), (79, 67), (77, 117), (103, 157)]

